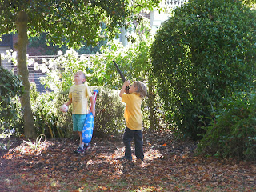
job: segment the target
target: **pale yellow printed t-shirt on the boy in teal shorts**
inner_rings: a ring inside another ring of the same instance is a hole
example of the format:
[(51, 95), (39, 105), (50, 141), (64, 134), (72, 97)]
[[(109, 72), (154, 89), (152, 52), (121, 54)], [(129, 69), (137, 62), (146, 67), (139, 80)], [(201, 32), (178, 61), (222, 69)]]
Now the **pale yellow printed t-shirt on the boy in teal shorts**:
[(86, 83), (71, 86), (69, 98), (72, 98), (72, 114), (88, 114), (87, 98), (90, 98), (91, 96), (90, 88)]

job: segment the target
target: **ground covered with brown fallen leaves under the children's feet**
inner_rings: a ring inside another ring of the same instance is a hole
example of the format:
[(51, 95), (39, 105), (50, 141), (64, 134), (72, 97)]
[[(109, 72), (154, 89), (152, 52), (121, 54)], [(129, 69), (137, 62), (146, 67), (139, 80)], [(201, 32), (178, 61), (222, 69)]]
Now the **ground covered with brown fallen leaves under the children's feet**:
[[(46, 140), (37, 150), (23, 138), (0, 139), (0, 191), (256, 191), (255, 162), (194, 156), (196, 142), (169, 131), (144, 135), (145, 161), (124, 162), (122, 141), (96, 139), (85, 154), (78, 140)], [(134, 149), (133, 149), (134, 151)]]

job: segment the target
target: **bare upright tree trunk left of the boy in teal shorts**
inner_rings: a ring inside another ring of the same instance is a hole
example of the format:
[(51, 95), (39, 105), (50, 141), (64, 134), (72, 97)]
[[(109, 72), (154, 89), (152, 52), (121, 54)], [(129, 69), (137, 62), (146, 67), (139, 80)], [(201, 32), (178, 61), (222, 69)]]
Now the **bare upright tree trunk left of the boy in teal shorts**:
[(29, 71), (26, 66), (26, 47), (28, 44), (27, 23), (28, 18), (26, 13), (24, 11), (20, 11), (16, 20), (18, 41), (15, 43), (14, 47), (17, 50), (18, 75), (20, 75), (25, 88), (24, 94), (22, 94), (21, 97), (22, 110), (24, 114), (24, 134), (26, 138), (35, 138), (36, 132), (34, 118), (30, 105)]

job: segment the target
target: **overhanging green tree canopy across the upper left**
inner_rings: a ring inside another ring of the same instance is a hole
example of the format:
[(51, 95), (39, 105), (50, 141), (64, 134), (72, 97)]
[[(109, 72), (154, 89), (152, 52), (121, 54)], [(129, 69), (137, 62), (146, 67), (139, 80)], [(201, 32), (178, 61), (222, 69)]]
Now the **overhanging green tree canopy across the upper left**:
[[(0, 34), (17, 30), (15, 21), (18, 12), (25, 11), (28, 17), (29, 36), (47, 32), (47, 39), (54, 44), (67, 43), (70, 47), (81, 42), (95, 44), (106, 36), (114, 38), (118, 29), (139, 22), (136, 13), (152, 10), (160, 0), (62, 0), (62, 1), (13, 1), (1, 0)], [(102, 25), (106, 28), (102, 31)]]

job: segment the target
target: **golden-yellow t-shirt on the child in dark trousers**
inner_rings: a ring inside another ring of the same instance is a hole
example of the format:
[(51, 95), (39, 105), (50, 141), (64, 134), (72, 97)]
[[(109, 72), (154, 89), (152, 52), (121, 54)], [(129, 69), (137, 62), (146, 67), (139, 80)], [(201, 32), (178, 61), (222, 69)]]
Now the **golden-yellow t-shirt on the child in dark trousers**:
[(126, 126), (130, 130), (142, 130), (142, 98), (138, 94), (122, 94), (122, 102), (126, 103)]

